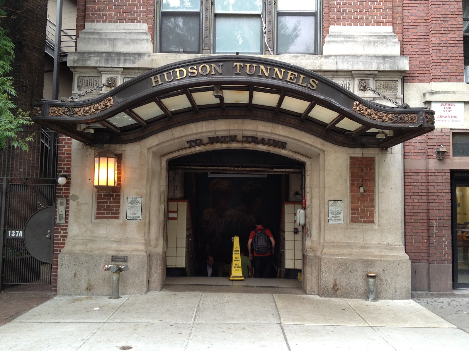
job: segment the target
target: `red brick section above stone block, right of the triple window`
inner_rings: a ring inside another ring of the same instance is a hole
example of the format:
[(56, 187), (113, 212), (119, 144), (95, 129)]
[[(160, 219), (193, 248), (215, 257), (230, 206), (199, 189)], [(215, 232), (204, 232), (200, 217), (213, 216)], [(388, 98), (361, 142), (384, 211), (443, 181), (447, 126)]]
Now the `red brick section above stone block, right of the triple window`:
[[(401, 0), (388, 1), (339, 1), (324, 0), (324, 38), (332, 25), (346, 26), (391, 26), (393, 9), (399, 8)], [(397, 19), (397, 18), (396, 18)]]

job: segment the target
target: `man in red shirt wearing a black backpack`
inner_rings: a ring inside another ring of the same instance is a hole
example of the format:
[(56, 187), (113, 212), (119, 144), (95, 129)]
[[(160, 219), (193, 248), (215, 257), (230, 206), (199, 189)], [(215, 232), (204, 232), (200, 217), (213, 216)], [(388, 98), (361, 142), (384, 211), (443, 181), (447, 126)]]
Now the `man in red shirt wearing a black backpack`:
[[(251, 253), (251, 243), (254, 249), (254, 255)], [(275, 249), (275, 240), (269, 229), (256, 224), (248, 240), (249, 258), (254, 267), (254, 278), (269, 278), (272, 267), (272, 255)]]

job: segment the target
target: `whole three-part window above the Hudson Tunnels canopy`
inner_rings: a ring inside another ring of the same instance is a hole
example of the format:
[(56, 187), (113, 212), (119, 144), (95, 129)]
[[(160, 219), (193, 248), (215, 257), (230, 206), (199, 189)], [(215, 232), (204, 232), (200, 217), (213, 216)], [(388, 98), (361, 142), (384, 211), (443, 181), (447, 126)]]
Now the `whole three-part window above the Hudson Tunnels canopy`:
[(159, 52), (316, 54), (317, 2), (161, 0)]

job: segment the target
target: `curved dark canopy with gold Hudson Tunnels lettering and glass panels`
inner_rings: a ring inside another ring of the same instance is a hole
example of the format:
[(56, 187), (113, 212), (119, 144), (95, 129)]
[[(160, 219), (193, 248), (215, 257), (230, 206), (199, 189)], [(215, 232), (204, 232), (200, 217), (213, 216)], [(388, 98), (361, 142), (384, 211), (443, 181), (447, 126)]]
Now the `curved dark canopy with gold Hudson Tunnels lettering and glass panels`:
[[(346, 147), (386, 148), (434, 129), (431, 110), (369, 102), (301, 67), (241, 55), (155, 68), (90, 100), (37, 102), (33, 115), (35, 122), (90, 144), (130, 143), (223, 118), (288, 125)], [(86, 126), (94, 133), (84, 132)], [(382, 131), (386, 138), (378, 139)]]

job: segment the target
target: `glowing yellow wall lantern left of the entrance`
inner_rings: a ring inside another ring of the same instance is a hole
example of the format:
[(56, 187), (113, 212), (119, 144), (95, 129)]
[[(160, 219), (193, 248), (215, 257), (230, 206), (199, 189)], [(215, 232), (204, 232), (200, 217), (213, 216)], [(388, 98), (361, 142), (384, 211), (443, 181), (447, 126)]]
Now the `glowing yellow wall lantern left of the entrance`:
[(117, 185), (117, 157), (103, 151), (94, 158), (94, 187), (99, 192), (109, 192)]

